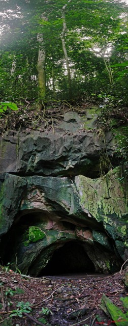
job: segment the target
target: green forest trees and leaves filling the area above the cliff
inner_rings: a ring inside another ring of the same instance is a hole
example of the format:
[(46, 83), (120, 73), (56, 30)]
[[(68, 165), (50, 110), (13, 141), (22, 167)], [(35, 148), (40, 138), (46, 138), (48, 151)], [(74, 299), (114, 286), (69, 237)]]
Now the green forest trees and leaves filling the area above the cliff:
[(1, 101), (127, 102), (126, 1), (1, 0)]

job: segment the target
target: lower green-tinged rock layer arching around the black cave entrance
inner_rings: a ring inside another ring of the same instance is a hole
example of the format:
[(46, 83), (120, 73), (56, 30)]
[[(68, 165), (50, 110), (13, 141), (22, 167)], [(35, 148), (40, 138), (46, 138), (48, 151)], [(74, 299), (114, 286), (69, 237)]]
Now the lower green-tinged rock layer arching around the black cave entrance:
[[(117, 169), (115, 170), (111, 174), (116, 174)], [(98, 184), (97, 180), (93, 180), (94, 188), (90, 194), (90, 190), (88, 192), (89, 178), (84, 176), (71, 179), (42, 176), (24, 178), (6, 175), (5, 188), (8, 189), (10, 186), (11, 192), (10, 198), (8, 195), (8, 207), (7, 201), (5, 201), (5, 206), (3, 205), (4, 221), (6, 221), (5, 233), (8, 224), (10, 237), (11, 233), (12, 235), (18, 234), (13, 249), (17, 252), (18, 269), (23, 273), (31, 270), (33, 275), (40, 274), (55, 250), (66, 242), (75, 240), (84, 245), (85, 253), (94, 264), (95, 271), (106, 273), (118, 269), (127, 249), (124, 243), (127, 238), (126, 227), (118, 214), (118, 207), (114, 211), (114, 220), (112, 219), (111, 209), (114, 209), (115, 198), (104, 211), (103, 202), (106, 191), (103, 179), (105, 178), (106, 176), (101, 179), (101, 182), (98, 180)], [(86, 179), (87, 182), (85, 182)], [(89, 189), (92, 188), (91, 182), (92, 179), (90, 179)], [(101, 196), (98, 185), (101, 187), (102, 183), (104, 189), (102, 189)], [(17, 192), (17, 185), (19, 192)], [(95, 192), (95, 187), (97, 192)], [(86, 195), (84, 200), (83, 191)], [(5, 198), (7, 198), (6, 194)], [(14, 201), (13, 198), (15, 198)], [(123, 212), (125, 215), (126, 211), (123, 210)], [(122, 212), (121, 214), (123, 215)], [(65, 226), (65, 223), (68, 223), (68, 226)], [(20, 228), (21, 233), (18, 231)], [(11, 253), (12, 261), (15, 259), (14, 252)], [(34, 264), (35, 261), (38, 261), (37, 265)], [(115, 267), (112, 266), (113, 264)], [(34, 268), (30, 267), (33, 265)]]

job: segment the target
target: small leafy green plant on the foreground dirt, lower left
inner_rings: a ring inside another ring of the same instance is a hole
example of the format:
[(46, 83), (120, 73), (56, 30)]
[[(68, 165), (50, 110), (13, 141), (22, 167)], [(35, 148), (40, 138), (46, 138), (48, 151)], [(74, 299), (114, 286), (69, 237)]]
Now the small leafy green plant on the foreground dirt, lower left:
[(13, 310), (10, 314), (10, 317), (20, 317), (22, 318), (23, 313), (30, 313), (31, 312), (31, 304), (29, 302), (18, 302), (16, 307), (17, 309)]

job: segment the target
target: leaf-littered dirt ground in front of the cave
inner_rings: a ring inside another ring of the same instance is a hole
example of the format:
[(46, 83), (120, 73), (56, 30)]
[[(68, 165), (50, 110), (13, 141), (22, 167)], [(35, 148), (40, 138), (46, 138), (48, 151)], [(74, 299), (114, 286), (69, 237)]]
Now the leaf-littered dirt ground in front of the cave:
[(105, 293), (122, 309), (120, 297), (128, 295), (124, 274), (31, 278), (0, 267), (0, 325), (112, 326), (101, 298)]

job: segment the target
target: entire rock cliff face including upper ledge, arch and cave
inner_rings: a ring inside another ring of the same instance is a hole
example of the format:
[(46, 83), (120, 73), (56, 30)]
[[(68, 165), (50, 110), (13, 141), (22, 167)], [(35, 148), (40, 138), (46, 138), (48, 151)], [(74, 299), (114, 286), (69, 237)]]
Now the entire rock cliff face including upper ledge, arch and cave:
[(1, 138), (1, 257), (14, 270), (107, 273), (128, 258), (127, 186), (111, 165), (113, 135), (86, 123), (90, 116), (69, 113), (51, 130)]

